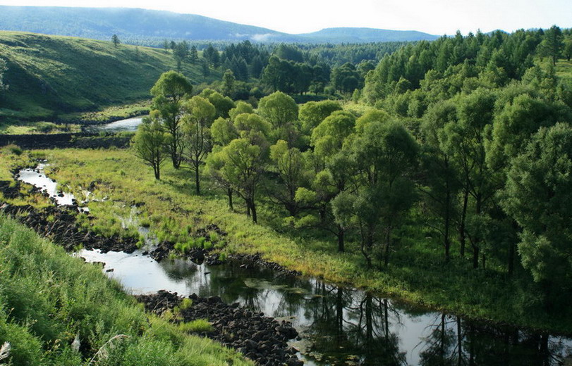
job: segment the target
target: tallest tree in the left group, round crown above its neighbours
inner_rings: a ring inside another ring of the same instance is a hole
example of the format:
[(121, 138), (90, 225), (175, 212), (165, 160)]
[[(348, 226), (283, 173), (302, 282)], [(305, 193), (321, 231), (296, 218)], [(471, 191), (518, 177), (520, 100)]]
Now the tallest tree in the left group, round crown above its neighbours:
[(181, 131), (181, 107), (183, 99), (193, 92), (193, 85), (182, 74), (175, 71), (164, 72), (154, 86), (152, 109), (159, 111), (161, 121), (169, 138), (166, 141), (173, 168), (178, 169), (183, 160), (185, 141)]

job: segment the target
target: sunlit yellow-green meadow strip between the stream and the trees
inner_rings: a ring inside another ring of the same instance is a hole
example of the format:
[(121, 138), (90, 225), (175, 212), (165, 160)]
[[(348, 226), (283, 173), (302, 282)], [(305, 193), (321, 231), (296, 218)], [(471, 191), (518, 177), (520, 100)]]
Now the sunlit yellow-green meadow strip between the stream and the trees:
[[(245, 216), (238, 198), (238, 212), (230, 212), (224, 192), (207, 179), (203, 180), (204, 194), (195, 196), (193, 175), (188, 170), (173, 170), (166, 163), (163, 178), (157, 181), (152, 170), (129, 150), (43, 153), (51, 163), (48, 175), (63, 186), (80, 192), (97, 182), (95, 196), (110, 198), (90, 204), (96, 227), (105, 227), (109, 208), (117, 205), (113, 201), (126, 203), (121, 215), (128, 215), (130, 203), (143, 202), (140, 210), (152, 232), (174, 241), (215, 224), (228, 233), (226, 253), (261, 253), (266, 260), (306, 275), (469, 317), (571, 332), (569, 314), (547, 315), (535, 307), (535, 292), (522, 289), (516, 279), (506, 279), (501, 264), (491, 260), (489, 270), (472, 270), (468, 260), (454, 258), (444, 265), (442, 247), (437, 240), (425, 238), (422, 227), (403, 229), (387, 270), (366, 270), (358, 244), (351, 241), (347, 253), (336, 253), (333, 237), (281, 227), (283, 216), (274, 206), (260, 205), (260, 225), (255, 225)], [(455, 246), (451, 250), (458, 253)]]

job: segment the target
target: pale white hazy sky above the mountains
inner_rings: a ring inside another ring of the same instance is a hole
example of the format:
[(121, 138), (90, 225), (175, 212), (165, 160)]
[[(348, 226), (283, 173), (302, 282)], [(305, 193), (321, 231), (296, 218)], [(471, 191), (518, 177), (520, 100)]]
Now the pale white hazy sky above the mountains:
[(372, 27), (441, 35), (554, 24), (572, 27), (572, 0), (0, 0), (0, 4), (149, 8), (288, 33)]

